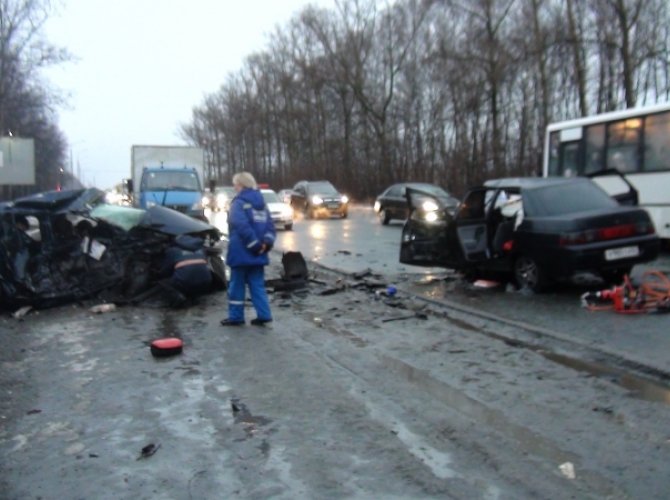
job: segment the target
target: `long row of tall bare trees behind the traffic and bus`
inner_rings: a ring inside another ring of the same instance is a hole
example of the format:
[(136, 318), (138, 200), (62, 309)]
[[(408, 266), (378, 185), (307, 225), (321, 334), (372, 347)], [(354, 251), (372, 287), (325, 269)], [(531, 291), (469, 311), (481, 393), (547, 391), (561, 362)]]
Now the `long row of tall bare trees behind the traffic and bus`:
[(208, 175), (359, 200), (535, 175), (547, 124), (666, 101), (666, 0), (339, 0), (269, 36), (182, 124)]

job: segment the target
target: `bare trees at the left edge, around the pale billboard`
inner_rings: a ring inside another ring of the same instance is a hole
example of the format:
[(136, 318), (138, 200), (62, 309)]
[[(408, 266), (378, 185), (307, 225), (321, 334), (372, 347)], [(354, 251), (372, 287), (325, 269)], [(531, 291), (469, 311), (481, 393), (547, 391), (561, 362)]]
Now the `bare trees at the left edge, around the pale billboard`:
[(55, 111), (61, 100), (40, 75), (69, 58), (44, 37), (51, 3), (0, 0), (0, 135), (34, 139), (36, 180), (34, 186), (0, 185), (0, 201), (55, 189), (68, 175), (67, 142)]

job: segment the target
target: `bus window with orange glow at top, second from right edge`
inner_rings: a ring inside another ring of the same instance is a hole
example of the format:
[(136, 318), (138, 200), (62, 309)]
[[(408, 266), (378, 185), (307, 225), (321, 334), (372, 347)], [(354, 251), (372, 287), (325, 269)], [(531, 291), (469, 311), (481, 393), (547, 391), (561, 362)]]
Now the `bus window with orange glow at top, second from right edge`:
[(640, 170), (642, 119), (630, 118), (607, 126), (607, 168), (620, 172)]

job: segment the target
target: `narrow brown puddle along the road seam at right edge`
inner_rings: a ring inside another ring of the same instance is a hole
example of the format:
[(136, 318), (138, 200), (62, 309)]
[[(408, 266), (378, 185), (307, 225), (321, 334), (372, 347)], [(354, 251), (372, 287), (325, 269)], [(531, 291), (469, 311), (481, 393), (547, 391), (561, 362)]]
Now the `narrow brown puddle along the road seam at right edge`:
[(630, 391), (630, 395), (636, 399), (644, 401), (655, 401), (665, 404), (670, 404), (670, 388), (662, 384), (646, 380), (641, 377), (636, 377), (630, 373), (616, 370), (609, 366), (591, 361), (584, 361), (581, 359), (564, 356), (555, 352), (548, 352), (537, 350), (549, 361), (567, 366), (574, 370), (589, 373), (596, 377), (606, 378), (611, 382), (620, 385), (624, 389)]

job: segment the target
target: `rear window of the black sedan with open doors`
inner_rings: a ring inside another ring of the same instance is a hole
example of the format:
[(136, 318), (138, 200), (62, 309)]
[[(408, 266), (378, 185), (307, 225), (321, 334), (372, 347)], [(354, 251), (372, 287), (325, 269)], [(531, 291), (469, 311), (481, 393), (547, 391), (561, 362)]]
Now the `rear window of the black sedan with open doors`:
[(570, 182), (532, 189), (524, 193), (524, 211), (528, 215), (565, 215), (618, 206), (592, 182)]

